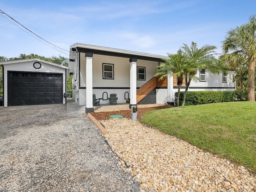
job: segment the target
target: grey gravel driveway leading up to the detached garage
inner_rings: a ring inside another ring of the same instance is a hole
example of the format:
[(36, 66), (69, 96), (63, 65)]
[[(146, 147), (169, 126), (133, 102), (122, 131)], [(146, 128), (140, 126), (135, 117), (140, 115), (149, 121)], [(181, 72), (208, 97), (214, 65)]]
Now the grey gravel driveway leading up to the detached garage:
[(0, 191), (139, 191), (88, 116), (17, 106), (1, 108), (0, 121)]

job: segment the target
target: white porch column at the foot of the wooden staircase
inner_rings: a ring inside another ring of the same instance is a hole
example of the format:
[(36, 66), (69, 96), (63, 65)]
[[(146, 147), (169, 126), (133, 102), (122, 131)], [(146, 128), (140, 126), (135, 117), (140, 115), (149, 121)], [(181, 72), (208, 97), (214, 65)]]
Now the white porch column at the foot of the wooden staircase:
[(131, 106), (137, 105), (137, 59), (130, 58), (130, 104)]

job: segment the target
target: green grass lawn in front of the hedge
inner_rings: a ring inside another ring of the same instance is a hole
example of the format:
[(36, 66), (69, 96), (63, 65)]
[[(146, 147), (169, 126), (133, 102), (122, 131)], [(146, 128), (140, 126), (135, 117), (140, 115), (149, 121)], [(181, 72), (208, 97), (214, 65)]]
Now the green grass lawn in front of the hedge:
[(256, 172), (256, 102), (154, 110), (142, 122)]

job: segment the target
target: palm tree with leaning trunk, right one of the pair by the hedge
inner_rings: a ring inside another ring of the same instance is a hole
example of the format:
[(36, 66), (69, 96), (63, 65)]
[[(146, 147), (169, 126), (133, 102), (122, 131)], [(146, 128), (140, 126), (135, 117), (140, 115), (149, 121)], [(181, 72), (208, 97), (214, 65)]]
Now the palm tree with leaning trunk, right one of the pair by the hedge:
[(207, 68), (212, 73), (219, 73), (220, 70), (222, 70), (223, 64), (220, 60), (214, 57), (216, 55), (216, 52), (214, 51), (216, 46), (204, 45), (201, 48), (198, 48), (195, 42), (192, 42), (190, 47), (187, 44), (183, 45), (182, 52), (188, 64), (186, 76), (186, 78), (188, 78), (188, 83), (186, 84), (182, 106), (184, 106), (186, 102), (186, 93), (188, 92), (191, 80), (198, 81), (198, 77), (195, 76), (197, 70)]

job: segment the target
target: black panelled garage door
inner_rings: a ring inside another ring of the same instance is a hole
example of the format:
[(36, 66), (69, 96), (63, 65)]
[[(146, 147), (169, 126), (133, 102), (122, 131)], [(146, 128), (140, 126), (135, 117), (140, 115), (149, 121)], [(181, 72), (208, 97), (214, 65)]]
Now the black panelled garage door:
[(8, 106), (62, 104), (62, 74), (8, 72)]

